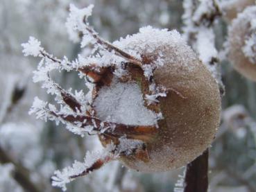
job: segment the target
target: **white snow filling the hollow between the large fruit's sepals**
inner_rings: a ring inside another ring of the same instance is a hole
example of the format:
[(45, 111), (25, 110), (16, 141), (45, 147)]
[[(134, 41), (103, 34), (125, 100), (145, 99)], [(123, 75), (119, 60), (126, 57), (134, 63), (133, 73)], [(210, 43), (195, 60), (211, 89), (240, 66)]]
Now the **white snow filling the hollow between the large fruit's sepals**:
[(155, 125), (157, 115), (144, 106), (142, 91), (135, 82), (118, 82), (99, 90), (94, 101), (96, 116), (101, 121), (126, 125)]

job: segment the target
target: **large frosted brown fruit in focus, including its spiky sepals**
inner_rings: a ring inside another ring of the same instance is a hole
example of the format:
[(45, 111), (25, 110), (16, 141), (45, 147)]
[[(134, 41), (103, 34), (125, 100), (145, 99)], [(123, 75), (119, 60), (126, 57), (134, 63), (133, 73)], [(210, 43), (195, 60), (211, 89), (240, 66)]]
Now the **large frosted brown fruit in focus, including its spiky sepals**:
[[(92, 55), (70, 62), (47, 53), (30, 37), (24, 55), (42, 58), (33, 80), (55, 94), (55, 105), (35, 98), (30, 113), (62, 122), (75, 134), (98, 134), (102, 152), (56, 171), (53, 186), (87, 175), (119, 159), (137, 171), (168, 171), (184, 166), (210, 146), (219, 127), (221, 98), (216, 80), (176, 30), (146, 26), (116, 42), (103, 40), (87, 23), (93, 6), (70, 7), (69, 32), (83, 34)], [(68, 91), (50, 72), (78, 71), (89, 91)]]

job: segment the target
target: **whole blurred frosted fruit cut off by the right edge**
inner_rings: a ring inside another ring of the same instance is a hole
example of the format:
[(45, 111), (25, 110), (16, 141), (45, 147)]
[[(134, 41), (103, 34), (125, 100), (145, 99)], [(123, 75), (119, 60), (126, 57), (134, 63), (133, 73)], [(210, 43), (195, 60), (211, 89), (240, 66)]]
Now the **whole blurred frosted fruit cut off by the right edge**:
[(239, 13), (228, 30), (228, 58), (234, 69), (256, 81), (256, 6)]

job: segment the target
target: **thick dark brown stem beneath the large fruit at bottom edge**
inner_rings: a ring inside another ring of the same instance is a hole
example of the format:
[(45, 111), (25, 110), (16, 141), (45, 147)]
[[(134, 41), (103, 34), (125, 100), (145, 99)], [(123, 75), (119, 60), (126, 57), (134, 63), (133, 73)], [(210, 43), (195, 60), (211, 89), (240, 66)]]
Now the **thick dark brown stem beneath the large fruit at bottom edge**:
[(184, 192), (206, 192), (208, 189), (209, 149), (187, 164)]

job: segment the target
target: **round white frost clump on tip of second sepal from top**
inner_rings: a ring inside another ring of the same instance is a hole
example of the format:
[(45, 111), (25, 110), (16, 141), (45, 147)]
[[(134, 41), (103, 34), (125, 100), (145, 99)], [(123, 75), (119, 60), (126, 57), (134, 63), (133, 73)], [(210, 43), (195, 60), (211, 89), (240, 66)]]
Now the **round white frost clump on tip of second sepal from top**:
[(40, 51), (44, 50), (40, 45), (41, 42), (35, 39), (35, 37), (29, 37), (28, 42), (22, 44), (22, 53), (24, 53), (25, 56), (32, 55), (34, 57), (37, 57), (38, 55), (40, 55)]

